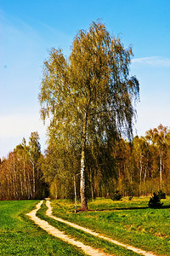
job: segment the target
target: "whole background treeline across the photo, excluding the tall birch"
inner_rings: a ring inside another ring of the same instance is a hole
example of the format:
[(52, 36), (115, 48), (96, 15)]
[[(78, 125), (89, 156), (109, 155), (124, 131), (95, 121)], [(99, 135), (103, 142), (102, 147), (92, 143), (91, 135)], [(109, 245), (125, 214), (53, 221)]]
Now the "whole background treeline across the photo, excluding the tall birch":
[[(159, 125), (134, 137), (132, 143), (113, 138), (86, 149), (88, 198), (150, 195), (162, 189), (170, 195), (170, 131)], [(80, 197), (81, 149), (49, 143), (41, 154), (39, 136), (32, 132), (0, 164), (0, 200)]]

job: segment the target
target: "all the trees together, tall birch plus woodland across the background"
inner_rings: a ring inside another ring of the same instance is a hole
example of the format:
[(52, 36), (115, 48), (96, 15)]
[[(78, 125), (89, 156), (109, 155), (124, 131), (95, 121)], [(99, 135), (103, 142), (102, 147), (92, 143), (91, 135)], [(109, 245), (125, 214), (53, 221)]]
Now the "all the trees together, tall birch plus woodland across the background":
[(88, 199), (170, 194), (170, 131), (159, 125), (133, 137), (139, 81), (130, 73), (132, 48), (112, 37), (99, 20), (74, 38), (71, 55), (52, 49), (39, 93), (48, 119), (48, 148), (41, 154), (32, 132), (1, 160), (0, 199)]

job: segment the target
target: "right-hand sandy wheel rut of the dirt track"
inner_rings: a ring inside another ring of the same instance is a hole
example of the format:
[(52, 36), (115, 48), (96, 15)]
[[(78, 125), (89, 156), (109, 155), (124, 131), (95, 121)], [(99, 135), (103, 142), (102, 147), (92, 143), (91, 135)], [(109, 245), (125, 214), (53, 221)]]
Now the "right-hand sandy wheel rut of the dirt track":
[[(46, 205), (47, 205), (47, 207), (48, 207), (48, 210), (47, 210), (46, 214), (47, 214), (48, 217), (50, 217), (50, 218), (54, 218), (55, 220), (57, 220), (57, 221), (59, 221), (59, 222), (68, 224), (68, 225), (70, 225), (71, 227), (73, 227), (73, 228), (75, 228), (75, 229), (78, 229), (78, 230), (82, 230), (82, 231), (84, 231), (84, 232), (87, 232), (87, 233), (90, 234), (90, 235), (97, 236), (97, 237), (102, 238), (102, 239), (105, 239), (105, 240), (107, 240), (107, 241), (111, 241), (112, 243), (114, 243), (114, 244), (116, 244), (116, 245), (118, 245), (118, 246), (121, 246), (121, 247), (125, 247), (125, 248), (127, 248), (128, 250), (133, 251), (134, 253), (139, 253), (139, 254), (144, 255), (144, 256), (156, 256), (156, 254), (149, 253), (149, 252), (146, 252), (146, 251), (141, 250), (141, 249), (139, 249), (139, 248), (136, 248), (136, 247), (132, 247), (132, 246), (123, 244), (122, 242), (115, 241), (115, 240), (113, 240), (113, 239), (111, 239), (111, 238), (109, 238), (109, 237), (106, 237), (106, 236), (102, 236), (102, 235), (100, 235), (100, 234), (98, 234), (98, 233), (96, 233), (96, 232), (94, 232), (94, 231), (92, 231), (92, 230), (88, 230), (87, 228), (83, 228), (83, 227), (80, 226), (80, 225), (73, 224), (73, 223), (71, 223), (71, 222), (69, 222), (69, 221), (66, 221), (66, 220), (62, 219), (62, 218), (57, 218), (57, 217), (55, 217), (55, 216), (52, 214), (52, 207), (51, 207), (51, 205), (50, 205), (50, 201), (49, 201), (49, 200), (46, 201)], [(98, 254), (89, 254), (89, 255), (98, 255)]]

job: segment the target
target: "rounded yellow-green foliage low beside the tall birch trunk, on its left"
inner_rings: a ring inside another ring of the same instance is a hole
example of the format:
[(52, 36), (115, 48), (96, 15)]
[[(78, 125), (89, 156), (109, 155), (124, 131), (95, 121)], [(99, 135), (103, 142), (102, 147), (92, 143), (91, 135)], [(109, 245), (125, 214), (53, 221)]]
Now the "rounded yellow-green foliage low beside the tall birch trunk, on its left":
[(51, 198), (73, 199), (73, 174), (77, 175), (80, 170), (79, 152), (76, 149), (71, 152), (71, 148), (55, 143), (48, 147), (40, 162), (43, 177), (50, 187)]

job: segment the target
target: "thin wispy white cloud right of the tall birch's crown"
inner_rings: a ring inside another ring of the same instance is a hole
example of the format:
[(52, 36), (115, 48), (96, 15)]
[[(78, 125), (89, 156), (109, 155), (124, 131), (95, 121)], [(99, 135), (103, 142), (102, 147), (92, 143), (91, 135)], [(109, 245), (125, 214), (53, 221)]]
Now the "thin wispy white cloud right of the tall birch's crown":
[(170, 67), (170, 59), (161, 56), (150, 56), (132, 60), (133, 64), (142, 64), (152, 67)]

